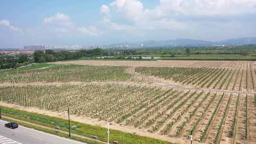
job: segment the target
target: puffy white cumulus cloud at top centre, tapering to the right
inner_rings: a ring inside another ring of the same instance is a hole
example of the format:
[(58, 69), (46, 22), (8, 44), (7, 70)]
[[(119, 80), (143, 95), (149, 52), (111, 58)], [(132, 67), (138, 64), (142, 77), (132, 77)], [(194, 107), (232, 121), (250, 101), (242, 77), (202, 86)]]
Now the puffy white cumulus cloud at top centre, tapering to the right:
[[(154, 29), (183, 30), (187, 27), (186, 24), (175, 21), (173, 18), (157, 16), (155, 10), (153, 12), (153, 10), (144, 9), (143, 3), (139, 0), (116, 0), (109, 6), (102, 5), (100, 10), (105, 14), (103, 22), (109, 24), (113, 30), (128, 32)], [(129, 24), (111, 19), (116, 15), (128, 21)]]

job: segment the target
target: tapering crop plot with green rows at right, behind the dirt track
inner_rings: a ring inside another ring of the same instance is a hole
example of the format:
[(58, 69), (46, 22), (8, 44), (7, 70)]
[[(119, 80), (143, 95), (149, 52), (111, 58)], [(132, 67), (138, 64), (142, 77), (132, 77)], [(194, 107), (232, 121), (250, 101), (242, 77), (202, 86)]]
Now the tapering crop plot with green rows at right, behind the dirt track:
[(137, 67), (135, 72), (185, 85), (219, 90), (256, 91), (256, 69)]

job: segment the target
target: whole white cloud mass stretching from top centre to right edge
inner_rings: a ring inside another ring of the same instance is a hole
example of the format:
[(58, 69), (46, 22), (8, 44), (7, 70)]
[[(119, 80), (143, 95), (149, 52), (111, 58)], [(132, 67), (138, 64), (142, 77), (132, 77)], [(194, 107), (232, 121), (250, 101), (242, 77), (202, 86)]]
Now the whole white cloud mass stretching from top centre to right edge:
[(113, 30), (185, 30), (190, 24), (178, 18), (251, 14), (256, 12), (256, 0), (159, 0), (154, 9), (145, 9), (139, 0), (115, 0), (100, 11)]

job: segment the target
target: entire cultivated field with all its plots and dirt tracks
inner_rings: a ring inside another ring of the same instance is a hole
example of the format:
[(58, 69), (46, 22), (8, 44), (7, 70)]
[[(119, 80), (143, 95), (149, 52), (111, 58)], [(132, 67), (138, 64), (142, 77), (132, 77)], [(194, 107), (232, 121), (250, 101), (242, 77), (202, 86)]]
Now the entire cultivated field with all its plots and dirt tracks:
[(70, 107), (73, 121), (175, 144), (191, 133), (196, 144), (256, 143), (255, 62), (57, 64), (0, 71), (2, 104), (58, 117)]

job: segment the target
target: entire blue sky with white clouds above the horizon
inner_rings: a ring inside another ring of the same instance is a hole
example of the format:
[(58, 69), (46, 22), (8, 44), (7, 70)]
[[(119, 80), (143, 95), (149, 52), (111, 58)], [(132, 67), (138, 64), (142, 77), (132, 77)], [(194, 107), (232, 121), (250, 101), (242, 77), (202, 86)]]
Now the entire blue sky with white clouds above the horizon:
[(256, 36), (256, 0), (0, 0), (0, 48)]

